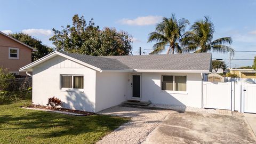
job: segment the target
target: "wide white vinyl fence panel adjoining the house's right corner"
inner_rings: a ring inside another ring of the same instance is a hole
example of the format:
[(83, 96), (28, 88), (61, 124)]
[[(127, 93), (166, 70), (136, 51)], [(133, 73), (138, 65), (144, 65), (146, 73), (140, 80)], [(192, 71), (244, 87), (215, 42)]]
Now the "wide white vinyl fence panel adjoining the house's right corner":
[(231, 110), (231, 83), (204, 82), (204, 108)]

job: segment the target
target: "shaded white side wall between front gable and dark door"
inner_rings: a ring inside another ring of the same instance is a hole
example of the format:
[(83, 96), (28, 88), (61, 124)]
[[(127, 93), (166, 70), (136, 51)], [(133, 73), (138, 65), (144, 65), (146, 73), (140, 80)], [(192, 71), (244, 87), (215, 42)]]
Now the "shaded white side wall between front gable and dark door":
[(96, 112), (121, 104), (127, 98), (130, 73), (96, 73)]

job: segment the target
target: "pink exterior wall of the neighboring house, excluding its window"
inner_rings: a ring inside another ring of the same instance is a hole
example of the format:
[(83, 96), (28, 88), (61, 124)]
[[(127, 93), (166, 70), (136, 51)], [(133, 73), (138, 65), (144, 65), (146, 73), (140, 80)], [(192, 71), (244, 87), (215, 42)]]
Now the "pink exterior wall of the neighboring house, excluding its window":
[[(9, 59), (9, 47), (19, 49), (19, 59)], [(0, 67), (19, 72), (21, 67), (31, 62), (31, 52), (32, 50), (27, 46), (0, 34)], [(19, 72), (19, 75), (26, 75), (26, 73)]]

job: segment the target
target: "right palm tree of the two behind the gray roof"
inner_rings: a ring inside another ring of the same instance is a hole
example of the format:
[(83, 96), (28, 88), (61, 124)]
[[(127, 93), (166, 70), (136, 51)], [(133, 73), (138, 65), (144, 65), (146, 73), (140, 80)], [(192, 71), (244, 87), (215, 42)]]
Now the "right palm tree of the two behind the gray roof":
[(234, 55), (234, 49), (231, 46), (223, 45), (225, 43), (231, 45), (231, 37), (222, 37), (212, 41), (214, 33), (214, 25), (208, 17), (204, 20), (197, 21), (191, 26), (181, 39), (183, 52), (208, 52), (216, 51), (220, 53), (230, 52)]

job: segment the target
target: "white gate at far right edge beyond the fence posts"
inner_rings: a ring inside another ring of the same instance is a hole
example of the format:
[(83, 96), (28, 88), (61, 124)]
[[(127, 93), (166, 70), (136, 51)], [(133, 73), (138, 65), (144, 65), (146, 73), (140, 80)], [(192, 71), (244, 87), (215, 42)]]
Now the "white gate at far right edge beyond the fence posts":
[(256, 113), (256, 84), (244, 85), (244, 113)]

